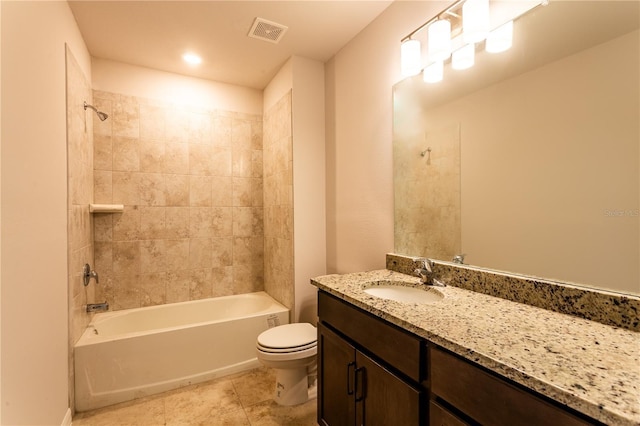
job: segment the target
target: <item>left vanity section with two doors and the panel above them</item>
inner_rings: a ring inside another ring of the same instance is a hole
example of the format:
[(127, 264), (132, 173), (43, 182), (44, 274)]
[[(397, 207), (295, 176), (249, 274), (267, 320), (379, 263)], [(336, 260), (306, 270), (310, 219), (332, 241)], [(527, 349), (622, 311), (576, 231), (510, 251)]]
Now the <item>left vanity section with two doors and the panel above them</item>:
[[(319, 294), (318, 309), (318, 423), (320, 425), (421, 425), (421, 405), (427, 393), (420, 383), (401, 370), (420, 377), (420, 339), (325, 293)], [(385, 357), (400, 360), (408, 338), (416, 350), (408, 363), (394, 368)], [(382, 355), (370, 351), (371, 343)], [(392, 346), (382, 349), (386, 343)], [(392, 349), (392, 350), (389, 350)], [(394, 353), (397, 352), (397, 353)]]

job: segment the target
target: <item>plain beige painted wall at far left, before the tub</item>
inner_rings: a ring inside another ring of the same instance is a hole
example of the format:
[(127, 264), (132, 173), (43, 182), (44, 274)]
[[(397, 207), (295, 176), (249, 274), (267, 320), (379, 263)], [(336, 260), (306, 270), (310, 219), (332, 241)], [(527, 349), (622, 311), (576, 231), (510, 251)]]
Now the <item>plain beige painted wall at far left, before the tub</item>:
[(66, 2), (2, 2), (2, 424), (69, 413), (65, 43), (90, 75)]

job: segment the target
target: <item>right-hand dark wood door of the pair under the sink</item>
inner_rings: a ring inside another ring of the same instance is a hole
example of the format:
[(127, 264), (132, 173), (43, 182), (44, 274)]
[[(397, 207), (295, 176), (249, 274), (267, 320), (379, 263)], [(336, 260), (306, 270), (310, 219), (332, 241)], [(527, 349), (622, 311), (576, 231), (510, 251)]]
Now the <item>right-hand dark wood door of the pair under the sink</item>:
[(356, 424), (418, 426), (422, 392), (356, 352)]

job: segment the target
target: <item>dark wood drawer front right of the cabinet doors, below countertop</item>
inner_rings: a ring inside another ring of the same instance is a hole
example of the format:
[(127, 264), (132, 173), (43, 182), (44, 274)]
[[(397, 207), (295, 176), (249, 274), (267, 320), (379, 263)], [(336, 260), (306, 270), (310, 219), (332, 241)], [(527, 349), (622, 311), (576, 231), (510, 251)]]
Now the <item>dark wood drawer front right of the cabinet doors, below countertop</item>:
[(473, 364), (429, 348), (431, 392), (483, 425), (593, 424)]

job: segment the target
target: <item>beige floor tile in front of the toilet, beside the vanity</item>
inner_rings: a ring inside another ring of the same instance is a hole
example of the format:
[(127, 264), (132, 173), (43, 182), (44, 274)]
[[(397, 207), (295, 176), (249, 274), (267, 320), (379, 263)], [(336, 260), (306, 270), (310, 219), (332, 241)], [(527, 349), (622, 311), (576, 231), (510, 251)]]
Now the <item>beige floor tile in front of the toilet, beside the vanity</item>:
[(284, 407), (273, 400), (261, 402), (245, 408), (251, 426), (315, 426), (317, 400), (304, 404)]

